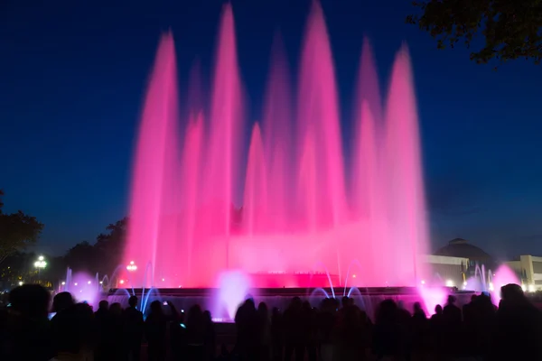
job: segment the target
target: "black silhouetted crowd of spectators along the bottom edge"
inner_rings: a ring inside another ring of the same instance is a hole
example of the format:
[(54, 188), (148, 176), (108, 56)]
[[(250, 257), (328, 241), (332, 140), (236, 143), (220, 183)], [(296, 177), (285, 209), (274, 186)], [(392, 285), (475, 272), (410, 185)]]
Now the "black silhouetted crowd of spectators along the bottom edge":
[(449, 296), (430, 318), (417, 302), (411, 312), (382, 301), (370, 319), (348, 297), (324, 299), (318, 308), (294, 297), (284, 311), (248, 299), (235, 316), (235, 342), (220, 347), (210, 312), (197, 305), (184, 313), (153, 301), (144, 320), (135, 296), (125, 310), (107, 301), (93, 310), (61, 292), (49, 319), (50, 297), (32, 284), (10, 292), (0, 313), (0, 360), (542, 359), (541, 313), (516, 284), (501, 288), (499, 308), (486, 294), (472, 295), (463, 308)]

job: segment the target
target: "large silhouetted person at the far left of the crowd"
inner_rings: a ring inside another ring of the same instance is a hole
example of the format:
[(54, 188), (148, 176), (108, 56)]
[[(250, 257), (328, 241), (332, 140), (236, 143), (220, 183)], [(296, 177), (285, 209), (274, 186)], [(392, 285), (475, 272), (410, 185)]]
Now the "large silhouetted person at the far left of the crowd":
[(37, 284), (24, 284), (9, 293), (2, 360), (45, 361), (53, 356), (48, 319), (50, 295)]

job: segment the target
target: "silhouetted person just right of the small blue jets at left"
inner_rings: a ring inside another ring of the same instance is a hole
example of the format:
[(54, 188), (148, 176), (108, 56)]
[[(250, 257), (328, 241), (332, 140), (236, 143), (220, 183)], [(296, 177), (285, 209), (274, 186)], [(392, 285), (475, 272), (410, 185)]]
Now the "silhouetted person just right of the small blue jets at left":
[(164, 361), (166, 353), (165, 333), (167, 320), (160, 301), (151, 303), (151, 310), (145, 320), (145, 335), (148, 342), (149, 361)]

